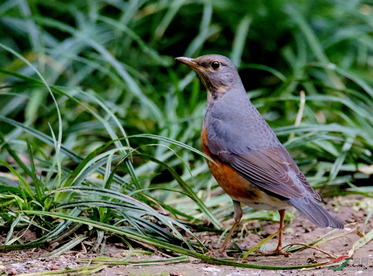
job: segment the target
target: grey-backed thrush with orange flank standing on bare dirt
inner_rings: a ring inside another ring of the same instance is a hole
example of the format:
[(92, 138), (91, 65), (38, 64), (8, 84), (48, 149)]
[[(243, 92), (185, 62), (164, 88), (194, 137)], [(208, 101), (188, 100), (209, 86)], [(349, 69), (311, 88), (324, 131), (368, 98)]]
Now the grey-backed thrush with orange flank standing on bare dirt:
[(283, 220), (291, 206), (318, 227), (344, 229), (320, 205), (320, 195), (251, 103), (233, 62), (217, 54), (175, 59), (194, 70), (207, 90), (202, 152), (210, 158), (207, 165), (217, 183), (233, 200), (234, 223), (219, 252), (225, 253), (241, 221), (241, 203), (279, 212), (278, 246), (265, 255), (291, 256), (282, 247)]

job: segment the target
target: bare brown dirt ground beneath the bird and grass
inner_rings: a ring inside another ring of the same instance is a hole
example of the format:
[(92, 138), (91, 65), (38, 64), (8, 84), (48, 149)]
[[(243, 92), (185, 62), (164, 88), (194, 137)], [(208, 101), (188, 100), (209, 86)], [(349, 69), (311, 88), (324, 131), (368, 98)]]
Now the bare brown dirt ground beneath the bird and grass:
[[(353, 245), (358, 241), (363, 233), (368, 233), (373, 228), (373, 219), (369, 219), (364, 227), (364, 221), (367, 218), (369, 210), (373, 209), (373, 199), (364, 198), (362, 196), (345, 196), (338, 199), (328, 199), (326, 208), (332, 214), (339, 217), (342, 222), (347, 226), (345, 230), (339, 230), (333, 233), (329, 237), (339, 236), (334, 240), (327, 241), (326, 243), (317, 245), (322, 251), (318, 251), (312, 248), (308, 248), (303, 251), (298, 251), (293, 254), (292, 257), (286, 258), (283, 256), (275, 257), (263, 257), (258, 254), (250, 255), (244, 260), (237, 260), (243, 263), (250, 264), (262, 264), (269, 266), (290, 266), (290, 265), (304, 265), (310, 263), (319, 263), (322, 261), (330, 260), (333, 256), (348, 255), (351, 250), (354, 250), (352, 259), (348, 262), (347, 266), (340, 270), (334, 271), (328, 268), (322, 269), (307, 269), (307, 270), (256, 270), (246, 269), (238, 267), (228, 266), (215, 266), (204, 263), (202, 261), (191, 261), (189, 263), (176, 263), (169, 265), (156, 265), (156, 266), (144, 266), (130, 264), (128, 266), (114, 266), (106, 267), (96, 275), (105, 276), (247, 276), (247, 275), (306, 275), (306, 276), (319, 276), (319, 275), (373, 275), (373, 241), (370, 241), (361, 248), (354, 248)], [(263, 237), (266, 237), (278, 229), (278, 223), (273, 222), (248, 222), (247, 229), (250, 224), (260, 224), (263, 231), (260, 231), (260, 235), (254, 232), (244, 232), (244, 236), (241, 237), (241, 232), (234, 237), (234, 240), (242, 250), (256, 245)], [(226, 225), (228, 227), (228, 225)], [(296, 215), (291, 225), (284, 232), (284, 243), (305, 243), (307, 241), (316, 240), (322, 237), (331, 229), (321, 229), (309, 222), (303, 216)], [(198, 238), (203, 241), (206, 239), (206, 245), (216, 246), (219, 235), (207, 235), (206, 232), (196, 233)], [(328, 238), (329, 238), (328, 237)], [(32, 238), (32, 237), (30, 237)], [(275, 248), (277, 245), (277, 239), (273, 238), (266, 244), (266, 249), (270, 250)], [(228, 246), (230, 246), (228, 244)], [(272, 248), (271, 248), (272, 247)], [(97, 254), (82, 254), (79, 248), (76, 251), (70, 251), (67, 254), (59, 256), (57, 258), (41, 257), (47, 251), (37, 250), (36, 252), (16, 252), (16, 253), (0, 253), (0, 275), (19, 275), (22, 273), (35, 273), (46, 270), (60, 270), (69, 268), (76, 268), (85, 266), (86, 264), (81, 263), (82, 260), (93, 259)], [(106, 256), (112, 258), (123, 258), (126, 256), (126, 252), (115, 245), (107, 246)], [(327, 254), (330, 254), (328, 256)], [(229, 254), (228, 254), (229, 255)], [(233, 257), (238, 257), (233, 254)], [(163, 256), (153, 254), (151, 256), (145, 255), (134, 255), (131, 257), (132, 260), (145, 260), (145, 259), (162, 259)], [(358, 264), (357, 258), (360, 258)], [(367, 263), (362, 264), (361, 260), (365, 258)], [(130, 259), (130, 260), (131, 260)], [(355, 261), (355, 262), (354, 262)], [(341, 264), (341, 263), (339, 263)], [(351, 269), (363, 270), (351, 270)], [(1, 274), (4, 273), (4, 274)]]

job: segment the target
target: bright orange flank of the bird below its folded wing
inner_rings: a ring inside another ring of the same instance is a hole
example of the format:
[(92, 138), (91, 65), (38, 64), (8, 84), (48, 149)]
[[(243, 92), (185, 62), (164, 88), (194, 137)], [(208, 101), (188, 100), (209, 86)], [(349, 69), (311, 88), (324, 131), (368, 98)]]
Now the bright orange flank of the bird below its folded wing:
[(250, 201), (260, 201), (261, 190), (255, 185), (251, 184), (250, 181), (242, 177), (227, 164), (222, 163), (218, 158), (212, 155), (207, 148), (207, 143), (207, 131), (206, 128), (203, 128), (201, 134), (202, 151), (219, 165), (216, 166), (210, 160), (206, 160), (211, 173), (215, 177), (220, 187), (222, 187), (222, 189), (232, 198), (244, 198)]

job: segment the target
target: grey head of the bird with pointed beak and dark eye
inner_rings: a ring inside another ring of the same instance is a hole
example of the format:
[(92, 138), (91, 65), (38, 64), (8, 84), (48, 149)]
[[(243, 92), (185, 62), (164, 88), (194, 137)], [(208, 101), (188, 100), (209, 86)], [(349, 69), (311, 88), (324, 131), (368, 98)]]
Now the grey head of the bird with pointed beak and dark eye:
[(178, 57), (176, 60), (188, 65), (197, 73), (207, 90), (209, 99), (217, 99), (229, 89), (238, 85), (242, 86), (235, 65), (223, 55), (203, 55), (198, 58)]

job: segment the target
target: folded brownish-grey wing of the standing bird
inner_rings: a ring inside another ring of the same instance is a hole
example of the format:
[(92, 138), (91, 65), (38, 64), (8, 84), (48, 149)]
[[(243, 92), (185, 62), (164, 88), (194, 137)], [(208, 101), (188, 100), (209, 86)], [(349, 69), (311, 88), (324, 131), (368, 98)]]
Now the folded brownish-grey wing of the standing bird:
[(234, 139), (230, 142), (222, 139), (215, 132), (207, 147), (252, 183), (285, 198), (301, 199), (307, 191), (321, 199), (280, 142), (275, 147), (252, 149), (235, 144)]

